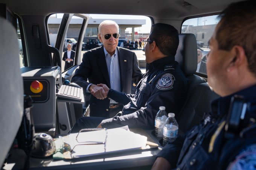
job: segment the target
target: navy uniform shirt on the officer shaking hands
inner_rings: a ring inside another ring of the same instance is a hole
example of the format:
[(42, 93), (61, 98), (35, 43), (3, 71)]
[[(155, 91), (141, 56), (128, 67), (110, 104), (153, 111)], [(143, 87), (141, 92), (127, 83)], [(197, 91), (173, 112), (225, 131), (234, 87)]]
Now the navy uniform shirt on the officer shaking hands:
[(174, 56), (155, 60), (149, 64), (134, 95), (109, 90), (108, 97), (124, 105), (122, 116), (105, 119), (101, 125), (103, 128), (128, 125), (152, 129), (159, 107), (165, 106), (167, 113), (178, 114), (186, 94), (187, 80)]

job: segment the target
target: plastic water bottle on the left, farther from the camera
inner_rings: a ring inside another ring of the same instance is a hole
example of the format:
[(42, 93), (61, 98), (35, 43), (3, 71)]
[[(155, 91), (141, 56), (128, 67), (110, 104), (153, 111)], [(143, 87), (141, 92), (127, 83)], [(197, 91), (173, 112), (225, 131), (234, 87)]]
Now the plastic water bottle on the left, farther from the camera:
[(159, 107), (159, 111), (155, 116), (155, 135), (157, 137), (163, 137), (163, 125), (167, 119), (167, 113), (164, 106)]

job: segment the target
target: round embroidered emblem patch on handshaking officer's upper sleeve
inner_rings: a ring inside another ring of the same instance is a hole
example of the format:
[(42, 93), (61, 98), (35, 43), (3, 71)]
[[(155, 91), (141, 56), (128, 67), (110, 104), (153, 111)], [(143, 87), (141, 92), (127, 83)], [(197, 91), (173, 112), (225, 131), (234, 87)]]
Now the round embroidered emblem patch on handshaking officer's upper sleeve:
[(174, 76), (170, 73), (163, 74), (161, 78), (157, 81), (157, 89), (169, 90), (173, 88)]

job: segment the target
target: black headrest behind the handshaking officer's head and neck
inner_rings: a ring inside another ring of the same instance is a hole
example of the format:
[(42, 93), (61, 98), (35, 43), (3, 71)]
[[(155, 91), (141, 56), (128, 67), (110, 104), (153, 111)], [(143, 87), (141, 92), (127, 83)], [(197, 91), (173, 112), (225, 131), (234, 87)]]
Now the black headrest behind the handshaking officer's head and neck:
[(179, 34), (179, 46), (175, 60), (185, 75), (194, 74), (197, 70), (197, 40), (194, 34)]

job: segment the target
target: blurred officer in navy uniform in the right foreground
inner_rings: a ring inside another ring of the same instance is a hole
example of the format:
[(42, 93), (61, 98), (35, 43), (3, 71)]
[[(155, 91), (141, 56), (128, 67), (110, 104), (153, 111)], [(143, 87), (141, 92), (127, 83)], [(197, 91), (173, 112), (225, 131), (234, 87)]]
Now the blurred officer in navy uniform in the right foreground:
[(256, 1), (232, 3), (220, 17), (207, 74), (221, 97), (200, 125), (163, 148), (152, 170), (256, 168)]

